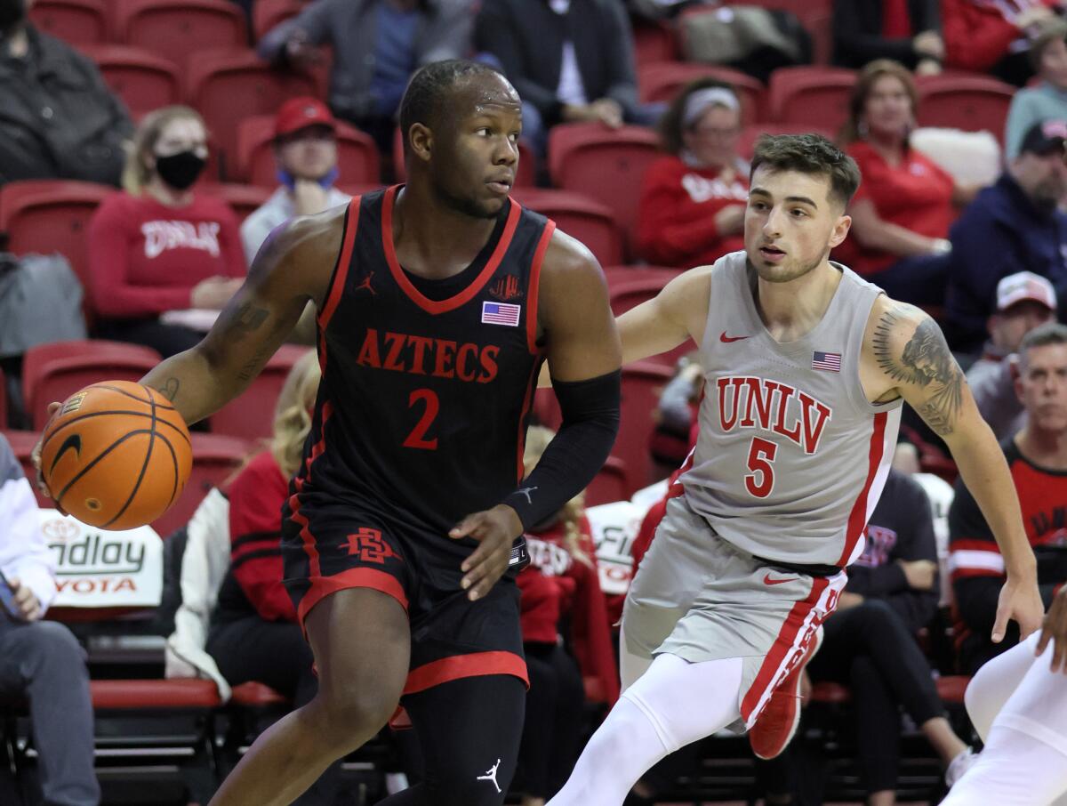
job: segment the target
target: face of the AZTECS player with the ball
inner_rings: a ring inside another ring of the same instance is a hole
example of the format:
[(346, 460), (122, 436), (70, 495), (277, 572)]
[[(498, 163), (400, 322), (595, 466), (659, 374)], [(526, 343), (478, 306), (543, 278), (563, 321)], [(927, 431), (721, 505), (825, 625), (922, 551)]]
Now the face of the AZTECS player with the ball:
[(522, 105), (511, 84), (495, 74), (467, 81), (455, 102), (469, 113), (442, 126), (434, 138), (434, 189), (460, 212), (495, 218), (515, 183)]

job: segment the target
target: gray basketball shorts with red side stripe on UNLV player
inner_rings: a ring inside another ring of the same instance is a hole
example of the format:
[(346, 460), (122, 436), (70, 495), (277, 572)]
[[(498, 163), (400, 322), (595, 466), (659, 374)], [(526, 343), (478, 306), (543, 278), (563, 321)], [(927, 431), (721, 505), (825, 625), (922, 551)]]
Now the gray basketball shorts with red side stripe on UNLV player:
[[(783, 535), (787, 540), (789, 536)], [(847, 576), (776, 568), (723, 540), (682, 495), (667, 505), (622, 612), (639, 658), (744, 660), (735, 729), (750, 728), (838, 604)]]

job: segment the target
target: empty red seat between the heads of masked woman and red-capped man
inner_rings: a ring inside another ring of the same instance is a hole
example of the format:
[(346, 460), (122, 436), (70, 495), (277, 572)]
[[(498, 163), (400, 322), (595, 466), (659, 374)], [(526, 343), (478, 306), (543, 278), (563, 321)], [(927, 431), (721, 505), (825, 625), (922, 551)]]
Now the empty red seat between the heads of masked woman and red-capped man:
[(189, 101), (218, 139), (226, 178), (237, 173), (237, 127), (241, 121), (273, 115), (284, 100), (315, 95), (316, 91), (312, 77), (272, 69), (251, 50), (197, 53), (186, 78)]

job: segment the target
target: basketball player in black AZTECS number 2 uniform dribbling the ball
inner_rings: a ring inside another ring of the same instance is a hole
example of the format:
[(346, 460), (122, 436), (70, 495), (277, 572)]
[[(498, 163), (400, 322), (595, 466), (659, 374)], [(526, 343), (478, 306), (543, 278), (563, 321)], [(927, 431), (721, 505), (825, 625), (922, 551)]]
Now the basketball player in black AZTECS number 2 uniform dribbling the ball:
[[(589, 483), (618, 428), (603, 273), (508, 197), (514, 89), (483, 65), (431, 64), (400, 117), (408, 185), (278, 227), (205, 339), (144, 379), (195, 423), (318, 307), (322, 382), (282, 543), (319, 692), (212, 804), (290, 803), (398, 704), (426, 777), (383, 803), (501, 804), (526, 681), (512, 543)], [(564, 423), (522, 479), (545, 358)]]

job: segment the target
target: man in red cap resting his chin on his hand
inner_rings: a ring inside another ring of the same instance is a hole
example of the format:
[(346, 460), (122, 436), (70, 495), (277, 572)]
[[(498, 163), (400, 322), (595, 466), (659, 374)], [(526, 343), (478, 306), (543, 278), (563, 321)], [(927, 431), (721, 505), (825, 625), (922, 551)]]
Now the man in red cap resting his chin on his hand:
[(274, 157), (282, 184), (241, 224), (244, 259), (252, 265), (271, 230), (293, 216), (314, 216), (351, 196), (337, 180), (336, 122), (316, 98), (291, 98), (274, 118)]

